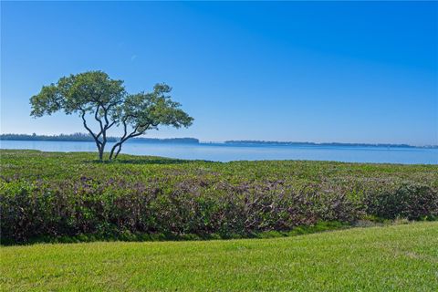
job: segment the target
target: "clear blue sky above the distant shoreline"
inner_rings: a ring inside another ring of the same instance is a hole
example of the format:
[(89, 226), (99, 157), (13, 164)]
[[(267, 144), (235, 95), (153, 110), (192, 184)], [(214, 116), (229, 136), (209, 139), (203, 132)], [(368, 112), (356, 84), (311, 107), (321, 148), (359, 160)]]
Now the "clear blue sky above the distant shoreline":
[(85, 132), (29, 98), (100, 69), (173, 87), (202, 141), (438, 144), (438, 3), (1, 3), (1, 132)]

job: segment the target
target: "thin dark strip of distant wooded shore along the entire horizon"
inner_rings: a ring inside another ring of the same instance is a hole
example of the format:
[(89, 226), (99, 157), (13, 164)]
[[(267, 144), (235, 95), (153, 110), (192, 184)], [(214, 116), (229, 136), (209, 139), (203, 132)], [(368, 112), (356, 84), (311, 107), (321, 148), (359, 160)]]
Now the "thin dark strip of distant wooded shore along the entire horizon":
[[(109, 142), (119, 141), (119, 137), (107, 137)], [(94, 141), (87, 133), (37, 135), (29, 134), (0, 134), (0, 141)], [(201, 142), (196, 138), (133, 138), (128, 142), (168, 142), (189, 144), (226, 144), (226, 145), (272, 145), (272, 146), (355, 146), (355, 147), (399, 147), (399, 148), (438, 148), (438, 145), (414, 146), (409, 144), (391, 143), (341, 143), (341, 142), (299, 142), (299, 141), (259, 141), (259, 140), (230, 140), (224, 142)]]

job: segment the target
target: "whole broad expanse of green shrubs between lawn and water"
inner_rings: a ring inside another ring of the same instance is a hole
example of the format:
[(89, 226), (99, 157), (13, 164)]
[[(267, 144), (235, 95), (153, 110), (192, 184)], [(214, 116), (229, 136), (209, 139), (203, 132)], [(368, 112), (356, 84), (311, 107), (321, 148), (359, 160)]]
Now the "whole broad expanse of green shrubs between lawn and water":
[(438, 217), (433, 166), (90, 163), (91, 154), (11, 153), (1, 161), (4, 244), (281, 235), (321, 222)]

